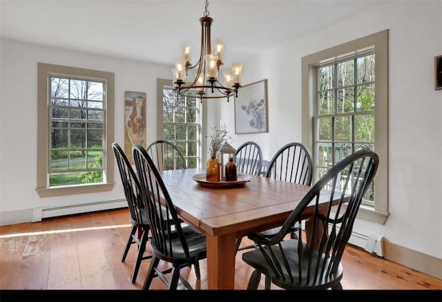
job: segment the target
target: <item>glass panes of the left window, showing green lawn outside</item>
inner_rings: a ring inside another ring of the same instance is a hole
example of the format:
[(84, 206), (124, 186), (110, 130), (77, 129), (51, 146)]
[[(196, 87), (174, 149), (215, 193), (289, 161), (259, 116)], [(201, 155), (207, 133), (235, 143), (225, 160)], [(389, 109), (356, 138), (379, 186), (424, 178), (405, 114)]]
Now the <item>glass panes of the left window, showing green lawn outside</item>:
[(50, 77), (49, 185), (102, 183), (104, 82)]

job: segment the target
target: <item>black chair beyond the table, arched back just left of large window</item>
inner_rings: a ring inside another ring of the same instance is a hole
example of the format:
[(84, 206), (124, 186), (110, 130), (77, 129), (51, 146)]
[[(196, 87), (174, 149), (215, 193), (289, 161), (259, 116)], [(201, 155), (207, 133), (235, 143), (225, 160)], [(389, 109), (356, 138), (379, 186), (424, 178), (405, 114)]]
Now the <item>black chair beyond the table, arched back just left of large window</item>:
[[(282, 146), (273, 155), (273, 158), (269, 161), (265, 177), (270, 179), (277, 179), (279, 181), (289, 181), (291, 183), (299, 183), (300, 185), (311, 185), (311, 179), (313, 176), (313, 161), (309, 150), (302, 145), (302, 143), (293, 142), (287, 143)], [(296, 230), (299, 228), (299, 223), (295, 223), (293, 228), (288, 232), (291, 234), (291, 238), (296, 238)], [(279, 232), (280, 228), (272, 228), (260, 232), (263, 236), (273, 236)], [(238, 250), (247, 250), (249, 248), (257, 248), (255, 244), (243, 246)]]

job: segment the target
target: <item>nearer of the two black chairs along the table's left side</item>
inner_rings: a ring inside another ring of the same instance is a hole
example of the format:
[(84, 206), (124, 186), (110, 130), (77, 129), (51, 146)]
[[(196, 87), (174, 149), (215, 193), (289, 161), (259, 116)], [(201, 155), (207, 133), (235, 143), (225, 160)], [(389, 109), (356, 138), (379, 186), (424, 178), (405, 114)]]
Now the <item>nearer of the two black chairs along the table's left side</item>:
[[(197, 267), (199, 271), (198, 261), (206, 259), (206, 237), (190, 225), (181, 224), (175, 205), (173, 205), (157, 167), (142, 145), (133, 145), (132, 151), (140, 179), (142, 201), (144, 208), (146, 208), (152, 234), (153, 257), (143, 289), (148, 290), (153, 278), (158, 276), (169, 290), (175, 290), (179, 280), (191, 290), (192, 286), (180, 274), (180, 269), (195, 265), (195, 272)], [(165, 209), (165, 212), (158, 210), (161, 207)], [(157, 268), (160, 260), (171, 263), (172, 269), (166, 272), (160, 271)], [(169, 273), (171, 276), (167, 279), (166, 275)]]

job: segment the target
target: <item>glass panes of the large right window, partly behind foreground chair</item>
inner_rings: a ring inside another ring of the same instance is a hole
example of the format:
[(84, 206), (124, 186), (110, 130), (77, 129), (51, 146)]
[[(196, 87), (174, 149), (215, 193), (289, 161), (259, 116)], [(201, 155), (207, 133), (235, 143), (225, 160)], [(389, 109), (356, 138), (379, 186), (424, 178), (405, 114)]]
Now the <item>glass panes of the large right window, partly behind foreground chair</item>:
[[(374, 61), (374, 54), (364, 54), (316, 68), (316, 179), (349, 154), (374, 150)], [(364, 202), (373, 201), (372, 183)]]

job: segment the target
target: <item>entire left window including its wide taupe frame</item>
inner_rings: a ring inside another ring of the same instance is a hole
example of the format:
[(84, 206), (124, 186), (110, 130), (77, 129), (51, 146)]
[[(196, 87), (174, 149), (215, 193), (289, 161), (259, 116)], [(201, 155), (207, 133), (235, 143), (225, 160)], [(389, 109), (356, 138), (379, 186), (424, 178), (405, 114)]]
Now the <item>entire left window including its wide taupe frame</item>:
[(111, 190), (113, 73), (38, 63), (38, 82), (39, 195)]

